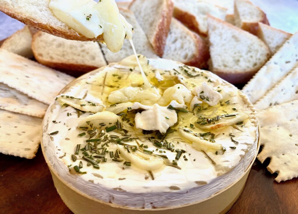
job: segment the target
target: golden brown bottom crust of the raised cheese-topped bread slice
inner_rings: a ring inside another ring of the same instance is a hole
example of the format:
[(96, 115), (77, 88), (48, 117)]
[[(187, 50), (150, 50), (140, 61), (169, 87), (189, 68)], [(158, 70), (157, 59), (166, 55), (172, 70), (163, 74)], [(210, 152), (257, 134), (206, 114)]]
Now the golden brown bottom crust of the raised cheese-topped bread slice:
[(11, 11), (8, 8), (2, 7), (1, 5), (0, 5), (0, 11), (9, 15), (12, 18), (17, 19), (18, 21), (23, 22), (24, 24), (30, 27), (52, 34), (54, 36), (62, 37), (69, 40), (78, 40), (78, 41), (100, 41), (100, 42), (104, 41), (103, 35), (99, 35), (97, 38), (86, 38), (85, 36), (80, 35), (79, 33), (75, 32), (69, 27), (59, 29), (59, 28), (55, 28), (55, 26), (45, 25), (33, 19), (30, 19), (28, 17), (24, 17), (21, 14), (15, 13), (15, 11)]

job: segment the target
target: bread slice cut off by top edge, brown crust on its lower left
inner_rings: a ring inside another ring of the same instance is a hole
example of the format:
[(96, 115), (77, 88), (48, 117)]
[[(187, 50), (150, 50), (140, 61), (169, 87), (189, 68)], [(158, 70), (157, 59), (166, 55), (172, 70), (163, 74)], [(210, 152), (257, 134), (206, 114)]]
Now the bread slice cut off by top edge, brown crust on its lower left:
[(207, 1), (173, 0), (174, 17), (198, 34), (207, 35), (207, 14), (225, 20), (226, 8)]

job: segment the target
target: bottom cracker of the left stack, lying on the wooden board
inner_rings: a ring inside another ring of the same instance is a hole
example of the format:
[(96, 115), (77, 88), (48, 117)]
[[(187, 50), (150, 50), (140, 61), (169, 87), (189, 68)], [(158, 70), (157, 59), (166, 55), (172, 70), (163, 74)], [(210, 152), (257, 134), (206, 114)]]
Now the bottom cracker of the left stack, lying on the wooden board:
[(42, 119), (0, 110), (0, 152), (32, 159), (41, 138)]

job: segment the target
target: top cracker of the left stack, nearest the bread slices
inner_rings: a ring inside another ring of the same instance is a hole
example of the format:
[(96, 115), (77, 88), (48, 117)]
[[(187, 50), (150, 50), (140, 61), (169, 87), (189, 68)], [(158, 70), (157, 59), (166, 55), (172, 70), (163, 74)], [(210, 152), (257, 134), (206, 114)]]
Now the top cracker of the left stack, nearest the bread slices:
[(0, 49), (0, 82), (46, 104), (74, 77)]

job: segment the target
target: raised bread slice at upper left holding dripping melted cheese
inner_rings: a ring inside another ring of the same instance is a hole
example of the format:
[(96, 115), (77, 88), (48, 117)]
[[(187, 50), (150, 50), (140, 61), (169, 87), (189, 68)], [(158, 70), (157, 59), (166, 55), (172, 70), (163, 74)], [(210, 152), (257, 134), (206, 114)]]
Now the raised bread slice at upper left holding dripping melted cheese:
[(71, 40), (104, 41), (103, 35), (86, 38), (61, 22), (49, 9), (49, 0), (0, 0), (0, 11), (24, 24)]

